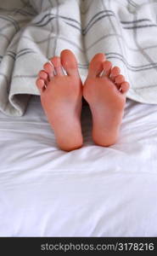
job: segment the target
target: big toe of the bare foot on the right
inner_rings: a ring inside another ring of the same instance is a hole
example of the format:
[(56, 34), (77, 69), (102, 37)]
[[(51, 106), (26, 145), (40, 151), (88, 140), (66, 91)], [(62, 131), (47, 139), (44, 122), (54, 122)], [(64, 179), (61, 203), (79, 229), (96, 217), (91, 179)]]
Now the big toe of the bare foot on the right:
[(103, 63), (105, 61), (105, 55), (99, 53), (95, 55), (89, 64), (88, 78), (94, 79), (103, 71)]

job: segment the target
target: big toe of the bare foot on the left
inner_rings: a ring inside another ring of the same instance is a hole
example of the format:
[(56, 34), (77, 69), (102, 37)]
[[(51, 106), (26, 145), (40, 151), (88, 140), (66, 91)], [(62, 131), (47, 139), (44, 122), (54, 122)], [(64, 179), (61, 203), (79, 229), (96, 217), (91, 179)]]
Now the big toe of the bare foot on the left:
[(64, 49), (61, 52), (61, 64), (64, 67), (66, 73), (70, 76), (78, 76), (78, 67), (76, 56), (70, 51), (70, 49)]

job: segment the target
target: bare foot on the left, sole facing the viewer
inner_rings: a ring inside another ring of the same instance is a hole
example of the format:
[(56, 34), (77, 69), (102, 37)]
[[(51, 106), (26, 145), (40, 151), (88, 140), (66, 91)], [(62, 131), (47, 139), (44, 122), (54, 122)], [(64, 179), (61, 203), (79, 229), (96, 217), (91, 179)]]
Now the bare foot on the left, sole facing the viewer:
[(82, 84), (75, 55), (70, 50), (63, 50), (60, 57), (53, 57), (51, 62), (44, 65), (36, 80), (42, 108), (59, 147), (66, 151), (81, 148)]

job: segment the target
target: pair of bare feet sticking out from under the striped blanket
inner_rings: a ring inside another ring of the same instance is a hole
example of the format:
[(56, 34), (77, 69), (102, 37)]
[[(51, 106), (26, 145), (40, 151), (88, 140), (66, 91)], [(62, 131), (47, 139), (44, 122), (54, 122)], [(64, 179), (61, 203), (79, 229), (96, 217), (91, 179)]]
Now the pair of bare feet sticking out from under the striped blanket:
[[(64, 70), (66, 74), (64, 73)], [(104, 54), (97, 54), (89, 65), (84, 86), (75, 55), (64, 49), (38, 73), (36, 86), (41, 92), (42, 108), (53, 128), (59, 148), (81, 148), (82, 96), (93, 115), (93, 141), (108, 147), (118, 138), (129, 84), (119, 67), (112, 67)]]

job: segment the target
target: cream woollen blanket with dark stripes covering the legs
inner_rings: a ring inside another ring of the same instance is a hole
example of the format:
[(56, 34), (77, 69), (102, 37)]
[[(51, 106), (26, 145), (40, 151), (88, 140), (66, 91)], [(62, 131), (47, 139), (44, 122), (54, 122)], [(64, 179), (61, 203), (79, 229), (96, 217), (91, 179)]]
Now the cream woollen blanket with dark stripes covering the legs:
[(0, 2), (0, 109), (20, 116), (36, 75), (62, 49), (81, 79), (103, 52), (131, 84), (128, 97), (157, 103), (157, 0), (5, 0)]

